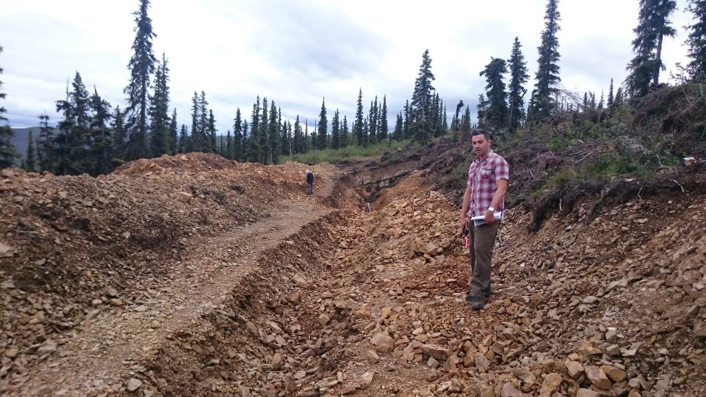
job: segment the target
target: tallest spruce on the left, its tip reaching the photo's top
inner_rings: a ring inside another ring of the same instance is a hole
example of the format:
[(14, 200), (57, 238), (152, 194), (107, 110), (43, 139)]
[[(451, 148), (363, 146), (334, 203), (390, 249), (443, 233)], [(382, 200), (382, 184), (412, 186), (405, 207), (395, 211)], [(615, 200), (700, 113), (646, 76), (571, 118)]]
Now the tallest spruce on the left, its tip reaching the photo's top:
[(150, 77), (155, 73), (157, 63), (157, 58), (152, 52), (152, 39), (157, 35), (152, 31), (152, 20), (147, 15), (148, 8), (150, 8), (150, 0), (140, 0), (140, 9), (133, 13), (137, 24), (132, 46), (134, 54), (128, 62), (130, 83), (123, 91), (128, 95), (125, 128), (130, 134), (126, 160), (152, 156), (148, 141), (148, 102)]

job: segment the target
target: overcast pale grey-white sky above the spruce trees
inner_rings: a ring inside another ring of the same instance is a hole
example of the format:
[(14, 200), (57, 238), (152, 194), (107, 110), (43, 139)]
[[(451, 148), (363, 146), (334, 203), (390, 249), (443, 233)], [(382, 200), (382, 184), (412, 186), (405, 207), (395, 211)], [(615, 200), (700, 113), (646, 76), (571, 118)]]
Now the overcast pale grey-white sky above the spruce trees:
[[(412, 96), (421, 55), (429, 49), (433, 86), (448, 114), (463, 100), (475, 116), (486, 85), (480, 71), (491, 57), (509, 59), (519, 37), (530, 76), (544, 28), (546, 0), (152, 0), (155, 56), (169, 59), (171, 109), (190, 126), (194, 91), (206, 94), (217, 128), (232, 130), (236, 109), (250, 122), (256, 97), (267, 97), (282, 116), (309, 126), (325, 97), (328, 120), (340, 109), (355, 116), (359, 89), (364, 111), (387, 95), (390, 129)], [(561, 0), (558, 32), (561, 82), (580, 95), (607, 95), (626, 77), (638, 0)], [(678, 35), (664, 40), (668, 71), (685, 64), (691, 23), (686, 0), (672, 16)], [(56, 100), (78, 71), (113, 106), (124, 108), (138, 0), (0, 0), (0, 102), (11, 126), (37, 126), (44, 111), (55, 125)], [(527, 84), (532, 91), (534, 81)], [(526, 100), (529, 99), (529, 94)]]

